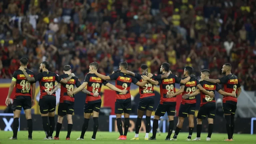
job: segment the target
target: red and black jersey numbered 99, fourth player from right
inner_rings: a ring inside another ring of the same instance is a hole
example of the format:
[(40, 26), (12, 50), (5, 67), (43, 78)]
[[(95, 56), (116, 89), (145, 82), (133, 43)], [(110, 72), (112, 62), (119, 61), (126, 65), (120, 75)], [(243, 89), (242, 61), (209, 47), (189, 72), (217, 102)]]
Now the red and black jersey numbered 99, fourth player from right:
[[(161, 74), (163, 75), (163, 74)], [(170, 74), (166, 79), (158, 80), (160, 85), (160, 104), (176, 102), (176, 96), (167, 98), (167, 94), (175, 93), (175, 83), (180, 83), (181, 78), (175, 74)]]

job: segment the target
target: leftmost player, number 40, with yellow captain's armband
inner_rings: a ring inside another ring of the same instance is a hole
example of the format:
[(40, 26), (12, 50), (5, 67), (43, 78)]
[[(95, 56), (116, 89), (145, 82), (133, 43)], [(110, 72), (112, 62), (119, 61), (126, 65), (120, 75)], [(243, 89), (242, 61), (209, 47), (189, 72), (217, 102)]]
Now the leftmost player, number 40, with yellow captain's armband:
[[(28, 75), (30, 77), (33, 77), (35, 74), (34, 72), (27, 69), (28, 65), (28, 59), (27, 58), (21, 58), (20, 59), (20, 65), (24, 68), (25, 71), (27, 71)], [(16, 70), (13, 73), (12, 76), (12, 82), (11, 86), (8, 91), (8, 95), (5, 101), (5, 104), (8, 106), (10, 104), (10, 96), (13, 91), (15, 85), (15, 95), (14, 95), (14, 101), (13, 101), (13, 136), (10, 139), (17, 139), (17, 133), (19, 128), (19, 118), (20, 118), (20, 112), (21, 108), (23, 107), (25, 111), (25, 116), (28, 123), (28, 139), (32, 140), (32, 119), (31, 119), (31, 107), (33, 107), (35, 103), (35, 83), (30, 83), (26, 80), (24, 74), (20, 70)], [(31, 95), (32, 90), (32, 95)], [(31, 98), (32, 96), (32, 98)]]

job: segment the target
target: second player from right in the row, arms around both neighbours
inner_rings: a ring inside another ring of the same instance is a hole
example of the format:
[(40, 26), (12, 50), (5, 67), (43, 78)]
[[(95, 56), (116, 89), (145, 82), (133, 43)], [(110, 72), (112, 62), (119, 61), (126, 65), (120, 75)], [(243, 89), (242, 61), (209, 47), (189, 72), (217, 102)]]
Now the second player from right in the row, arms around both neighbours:
[[(201, 71), (201, 78), (209, 78), (210, 76), (210, 71), (207, 69), (204, 69)], [(235, 93), (227, 93), (221, 90), (220, 86), (218, 84), (213, 84), (207, 81), (200, 81), (200, 84), (203, 88), (205, 88), (207, 91), (211, 93), (215, 93), (215, 91), (219, 92), (221, 95), (228, 95), (228, 96), (236, 96)], [(200, 90), (197, 89), (195, 92), (192, 94), (185, 94), (182, 96), (182, 98), (186, 99), (189, 97), (196, 96), (200, 93)], [(213, 131), (213, 119), (215, 118), (215, 113), (216, 113), (216, 103), (215, 103), (215, 97), (209, 97), (208, 95), (205, 95), (204, 93), (200, 93), (201, 95), (201, 103), (200, 103), (200, 108), (197, 114), (197, 126), (196, 126), (196, 132), (197, 136), (195, 139), (192, 141), (197, 141), (201, 140), (200, 135), (202, 131), (202, 119), (205, 119), (206, 116), (208, 118), (208, 136), (206, 138), (206, 141), (211, 140), (211, 135)]]

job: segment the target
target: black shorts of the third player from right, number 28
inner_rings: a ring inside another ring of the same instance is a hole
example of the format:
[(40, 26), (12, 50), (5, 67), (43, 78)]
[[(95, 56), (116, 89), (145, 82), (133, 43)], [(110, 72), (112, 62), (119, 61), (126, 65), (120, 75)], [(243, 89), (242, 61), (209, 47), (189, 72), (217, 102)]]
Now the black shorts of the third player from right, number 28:
[(189, 115), (195, 115), (196, 103), (193, 104), (180, 104), (179, 117), (187, 117)]

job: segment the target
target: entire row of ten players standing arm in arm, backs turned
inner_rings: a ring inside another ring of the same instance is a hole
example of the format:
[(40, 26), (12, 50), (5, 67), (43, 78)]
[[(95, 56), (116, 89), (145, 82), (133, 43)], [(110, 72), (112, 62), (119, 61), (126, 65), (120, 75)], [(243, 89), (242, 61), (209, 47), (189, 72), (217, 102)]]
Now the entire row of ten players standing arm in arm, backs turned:
[[(115, 102), (115, 113), (117, 116), (118, 130), (120, 132), (120, 137), (118, 139), (120, 139), (120, 140), (126, 139), (126, 135), (128, 132), (128, 127), (129, 127), (129, 114), (131, 112), (131, 96), (130, 96), (129, 90), (130, 90), (131, 82), (140, 86), (140, 94), (141, 94), (141, 100), (140, 100), (139, 106), (138, 106), (138, 119), (136, 122), (136, 130), (135, 130), (136, 134), (133, 139), (138, 139), (138, 132), (139, 132), (141, 118), (143, 116), (144, 111), (146, 111), (146, 121), (147, 121), (145, 139), (146, 140), (148, 139), (148, 133), (149, 133), (149, 129), (150, 129), (150, 116), (153, 111), (153, 105), (154, 105), (153, 85), (160, 85), (161, 101), (157, 107), (156, 115), (154, 117), (153, 136), (150, 138), (152, 140), (155, 139), (156, 130), (158, 127), (158, 120), (161, 116), (164, 115), (165, 112), (167, 112), (167, 114), (169, 116), (169, 122), (170, 122), (169, 133), (168, 133), (168, 136), (166, 139), (170, 140), (170, 135), (172, 133), (171, 131), (173, 129), (173, 116), (175, 113), (176, 95), (183, 93), (183, 99), (182, 99), (182, 104), (181, 104), (180, 113), (179, 113), (179, 122), (178, 122), (177, 128), (175, 130), (175, 135), (172, 138), (173, 140), (175, 140), (177, 138), (178, 132), (182, 127), (184, 118), (187, 117), (188, 114), (189, 114), (189, 121), (190, 121), (190, 126), (191, 126), (190, 135), (188, 137), (188, 140), (191, 139), (191, 135), (193, 132), (193, 127), (194, 127), (192, 125), (193, 124), (192, 117), (194, 116), (194, 111), (195, 111), (194, 110), (195, 109), (195, 95), (200, 93), (199, 90), (196, 90), (197, 87), (203, 93), (207, 94), (207, 95), (204, 95), (204, 98), (203, 98), (206, 101), (205, 103), (202, 102), (202, 97), (201, 97), (201, 106), (206, 105), (207, 103), (215, 102), (215, 99), (212, 98), (214, 96), (213, 93), (209, 92), (209, 91), (214, 92), (215, 89), (225, 96), (229, 96), (229, 95), (235, 96), (236, 95), (234, 93), (232, 94), (232, 91), (231, 91), (231, 93), (225, 93), (225, 92), (221, 91), (218, 85), (214, 86), (214, 85), (205, 84), (205, 85), (203, 85), (203, 87), (208, 88), (208, 91), (206, 91), (200, 85), (198, 80), (196, 78), (194, 78), (194, 75), (189, 76), (193, 72), (192, 67), (185, 67), (184, 75), (186, 77), (184, 79), (180, 79), (176, 75), (170, 74), (171, 73), (169, 71), (170, 65), (168, 63), (162, 64), (160, 71), (163, 74), (161, 74), (161, 75), (148, 74), (148, 69), (147, 69), (146, 65), (141, 66), (142, 75), (132, 73), (132, 72), (126, 71), (128, 64), (126, 62), (122, 62), (122, 63), (120, 63), (119, 70), (116, 70), (115, 73), (113, 72), (113, 74), (110, 76), (104, 76), (104, 75), (97, 73), (98, 63), (94, 62), (94, 63), (90, 64), (90, 72), (88, 75), (86, 75), (85, 81), (82, 85), (77, 80), (77, 78), (74, 77), (74, 74), (71, 73), (71, 68), (68, 65), (64, 67), (65, 74), (59, 77), (57, 74), (48, 71), (49, 63), (44, 61), (41, 63), (41, 66), (40, 66), (41, 73), (39, 73), (38, 75), (33, 77), (34, 76), (33, 73), (29, 75), (26, 72), (27, 69), (24, 69), (24, 68), (26, 68), (27, 64), (28, 64), (27, 59), (22, 58), (21, 59), (21, 67), (18, 71), (15, 71), (15, 73), (13, 75), (12, 85), (10, 87), (10, 90), (11, 90), (11, 88), (13, 89), (13, 86), (16, 83), (16, 94), (15, 94), (14, 106), (13, 106), (14, 107), (13, 108), (14, 109), (14, 118), (19, 117), (21, 107), (24, 108), (25, 112), (27, 110), (28, 115), (30, 114), (29, 110), (31, 108), (31, 105), (29, 106), (29, 98), (31, 99), (31, 95), (30, 95), (30, 97), (25, 97), (26, 95), (24, 95), (24, 93), (27, 92), (27, 96), (29, 96), (30, 90), (31, 90), (29, 82), (39, 81), (40, 82), (39, 83), (40, 84), (39, 106), (40, 106), (40, 112), (42, 114), (42, 119), (43, 119), (43, 127), (44, 127), (44, 130), (46, 133), (45, 139), (52, 139), (52, 134), (53, 134), (54, 125), (55, 125), (55, 122), (54, 122), (54, 113), (55, 113), (55, 107), (56, 107), (55, 91), (59, 87), (61, 87), (60, 104), (59, 104), (59, 110), (58, 110), (59, 116), (58, 116), (58, 123), (56, 125), (56, 136), (54, 137), (54, 139), (59, 139), (58, 135), (59, 135), (59, 131), (61, 129), (61, 123), (63, 120), (63, 116), (66, 114), (67, 114), (68, 123), (69, 123), (67, 139), (69, 139), (71, 129), (72, 129), (72, 114), (73, 114), (73, 105), (74, 105), (73, 94), (80, 90), (87, 93), (88, 96), (86, 97), (86, 102), (85, 102), (85, 107), (84, 107), (85, 119), (84, 119), (84, 124), (83, 124), (83, 128), (82, 128), (82, 133), (78, 139), (83, 139), (84, 133), (88, 127), (88, 122), (89, 122), (91, 113), (93, 113), (93, 120), (94, 120), (94, 133), (93, 133), (92, 139), (96, 138), (96, 132), (97, 132), (97, 127), (98, 127), (98, 114), (99, 114), (98, 112), (99, 112), (99, 109), (101, 106), (101, 98), (98, 94), (100, 93), (102, 83), (104, 85), (110, 87), (111, 89), (117, 91), (116, 102)], [(224, 66), (226, 69), (224, 69)], [(223, 66), (223, 73), (226, 71), (227, 72), (229, 71), (229, 73), (227, 75), (231, 74), (230, 73), (231, 65), (225, 64), (224, 66)], [(24, 75), (20, 74), (21, 72), (24, 73)], [(30, 73), (31, 71), (28, 70), (28, 72)], [(25, 79), (25, 77), (26, 77), (26, 79)], [(206, 78), (209, 77), (208, 70), (202, 71), (201, 78), (204, 78), (204, 77), (206, 77)], [(237, 81), (237, 77), (232, 75), (232, 76), (230, 76), (230, 78), (232, 78), (234, 83), (237, 83), (238, 95), (239, 95), (240, 84)], [(236, 78), (236, 79), (234, 79), (234, 78)], [(59, 83), (62, 83), (62, 84), (58, 84), (56, 87), (54, 87), (53, 82), (55, 82), (55, 80), (57, 80)], [(116, 80), (116, 87), (109, 84), (106, 80)], [(226, 82), (226, 80), (228, 80), (227, 77), (225, 79), (222, 78), (222, 83)], [(23, 84), (20, 81), (24, 81), (25, 83), (23, 82), (24, 83)], [(205, 82), (206, 81), (210, 81), (212, 83), (217, 83), (220, 80), (214, 81), (211, 79), (205, 79)], [(176, 92), (176, 90), (175, 90), (175, 83), (183, 83), (181, 85), (181, 89), (178, 92)], [(18, 85), (19, 85), (19, 87), (17, 87)], [(76, 85), (78, 87), (75, 90), (74, 90), (74, 85)], [(86, 87), (86, 85), (87, 85), (87, 89), (89, 91), (84, 89)], [(32, 86), (33, 86), (33, 84), (32, 84)], [(24, 91), (24, 88), (26, 89), (25, 91)], [(9, 103), (10, 90), (9, 90), (9, 94), (6, 99), (7, 105)], [(226, 90), (230, 91), (228, 88), (226, 88)], [(235, 93), (237, 93), (237, 90), (234, 90), (234, 91), (235, 91)], [(191, 92), (193, 92), (193, 93), (190, 94)], [(201, 93), (201, 96), (203, 93)], [(33, 94), (33, 89), (32, 89), (32, 102), (33, 102), (33, 99), (34, 99), (34, 94)], [(223, 103), (223, 105), (224, 105), (224, 103)], [(233, 105), (234, 104), (227, 105), (227, 109), (233, 108), (232, 107)], [(212, 106), (213, 106), (213, 104), (212, 104)], [(207, 111), (203, 111), (203, 109), (201, 111), (202, 111), (202, 116), (208, 115), (208, 118), (211, 116), (212, 117), (215, 116), (215, 114), (213, 114), (214, 111), (212, 110), (212, 107), (208, 108)], [(200, 112), (200, 110), (199, 110), (199, 112)], [(229, 112), (229, 110), (228, 110), (228, 112)], [(228, 112), (227, 112), (227, 115), (229, 115), (229, 117), (230, 117), (230, 114), (228, 114)], [(15, 113), (17, 113), (18, 115), (16, 115)], [(27, 117), (27, 113), (26, 113), (26, 117)], [(124, 116), (125, 116), (124, 134), (122, 131), (122, 121), (121, 121), (122, 113), (124, 113)], [(232, 114), (231, 114), (231, 120), (230, 120), (231, 123), (232, 123), (232, 118), (233, 118)], [(50, 122), (49, 125), (48, 125), (48, 116), (49, 116), (49, 122)], [(228, 118), (228, 116), (225, 116), (225, 117)], [(32, 124), (31, 124), (31, 126), (29, 124), (29, 122), (31, 121), (31, 114), (30, 114), (30, 118), (27, 117), (27, 119), (28, 119), (29, 139), (32, 139)], [(16, 120), (14, 119), (14, 126), (18, 127), (18, 123), (15, 122), (17, 120), (18, 119), (16, 119)], [(31, 123), (32, 123), (32, 121), (31, 121)], [(210, 120), (209, 120), (209, 123), (210, 123)], [(227, 123), (228, 123), (228, 121), (227, 121)], [(210, 124), (209, 124), (209, 128), (210, 128)], [(17, 128), (17, 130), (18, 130), (18, 128)], [(16, 127), (14, 127), (14, 129), (13, 129), (14, 135), (11, 139), (17, 139), (17, 130), (16, 130)], [(198, 131), (200, 130), (200, 121), (198, 122), (197, 130)], [(209, 132), (209, 133), (211, 133), (211, 132)], [(228, 135), (229, 135), (229, 133), (228, 133)], [(198, 135), (197, 135), (197, 137), (198, 137)], [(229, 136), (229, 139), (231, 139), (230, 136)]]

